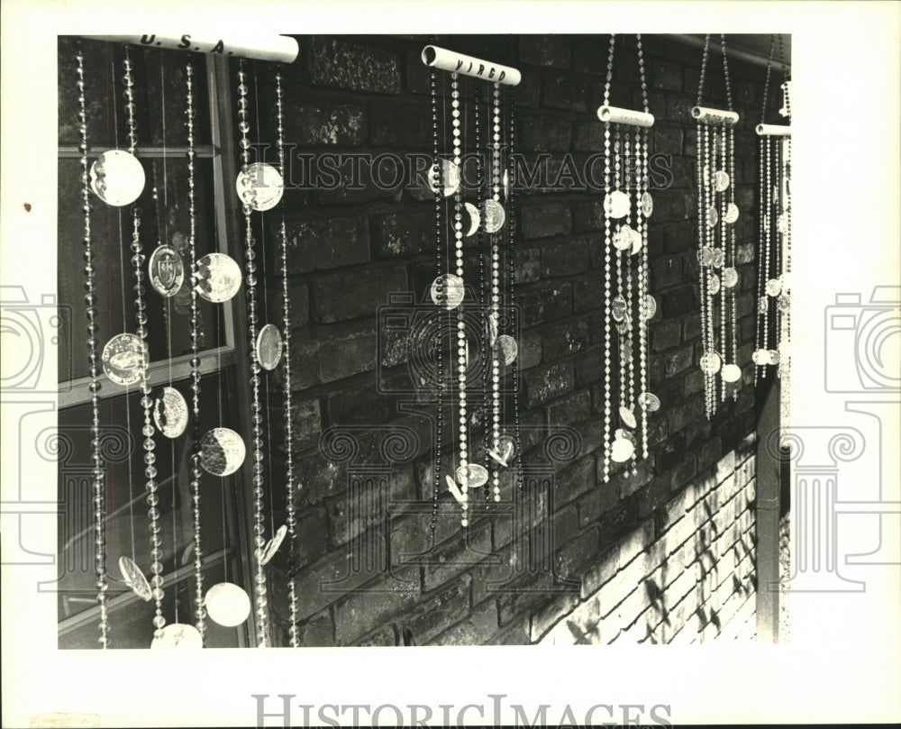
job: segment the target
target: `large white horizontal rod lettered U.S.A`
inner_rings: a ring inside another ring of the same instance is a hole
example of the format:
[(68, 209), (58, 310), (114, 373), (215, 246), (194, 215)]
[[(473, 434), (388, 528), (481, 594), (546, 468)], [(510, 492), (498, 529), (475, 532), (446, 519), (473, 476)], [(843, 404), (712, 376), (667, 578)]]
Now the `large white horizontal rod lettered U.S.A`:
[(287, 35), (235, 35), (216, 36), (206, 33), (182, 35), (86, 35), (95, 41), (131, 43), (148, 48), (168, 50), (193, 50), (196, 53), (212, 53), (218, 56), (235, 56), (244, 59), (272, 60), (294, 63), (299, 48), (297, 41)]

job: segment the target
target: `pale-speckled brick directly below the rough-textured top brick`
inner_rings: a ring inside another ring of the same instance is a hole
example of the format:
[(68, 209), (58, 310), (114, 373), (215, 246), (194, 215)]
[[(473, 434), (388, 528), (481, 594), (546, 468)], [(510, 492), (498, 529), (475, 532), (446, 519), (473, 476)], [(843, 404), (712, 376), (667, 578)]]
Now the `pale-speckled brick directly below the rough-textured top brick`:
[(287, 96), (284, 117), (285, 138), (300, 145), (356, 147), (366, 140), (366, 110), (358, 104)]

